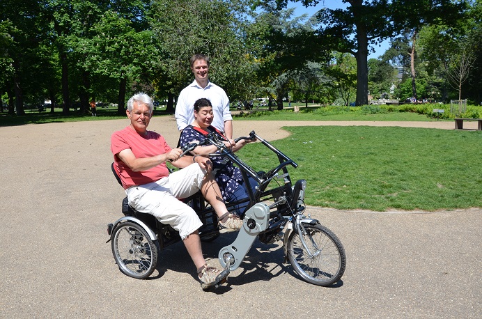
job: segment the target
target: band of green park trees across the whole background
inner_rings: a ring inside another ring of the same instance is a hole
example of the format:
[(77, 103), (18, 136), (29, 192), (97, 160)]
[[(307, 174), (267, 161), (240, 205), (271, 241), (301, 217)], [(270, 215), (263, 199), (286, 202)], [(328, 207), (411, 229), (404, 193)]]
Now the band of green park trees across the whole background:
[[(403, 98), (397, 94), (405, 96), (411, 81), (412, 95), (462, 92), (480, 102), (481, 1), (341, 0), (339, 8), (294, 17), (283, 9), (288, 0), (4, 0), (0, 93), (17, 115), (44, 100), (52, 112), (61, 105), (65, 114), (86, 113), (91, 99), (123, 113), (137, 91), (168, 100), (173, 111), (192, 81), (189, 57), (203, 53), (231, 101), (362, 105), (368, 93)], [(389, 51), (368, 61), (386, 39)], [(453, 89), (450, 72), (464, 48), (471, 68)], [(402, 79), (394, 65), (405, 68)]]

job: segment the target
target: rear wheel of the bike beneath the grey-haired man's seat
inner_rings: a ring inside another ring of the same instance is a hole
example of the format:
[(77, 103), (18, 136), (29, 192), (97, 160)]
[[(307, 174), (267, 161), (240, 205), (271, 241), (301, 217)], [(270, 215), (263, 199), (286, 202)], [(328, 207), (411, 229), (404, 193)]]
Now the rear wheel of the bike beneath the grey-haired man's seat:
[(145, 279), (157, 265), (157, 242), (131, 221), (118, 224), (112, 238), (112, 254), (121, 272), (127, 276)]

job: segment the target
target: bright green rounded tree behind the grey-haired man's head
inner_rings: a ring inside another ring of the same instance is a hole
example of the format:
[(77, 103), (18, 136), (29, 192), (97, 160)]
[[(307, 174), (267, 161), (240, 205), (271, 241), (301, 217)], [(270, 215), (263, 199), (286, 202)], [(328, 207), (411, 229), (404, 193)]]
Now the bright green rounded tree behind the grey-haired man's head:
[[(159, 71), (159, 44), (149, 30), (143, 1), (113, 3), (93, 26), (88, 41), (86, 70), (107, 81), (116, 81), (118, 114), (125, 114), (127, 89), (148, 88)], [(134, 84), (134, 86), (129, 86)], [(146, 93), (153, 94), (153, 88)]]

